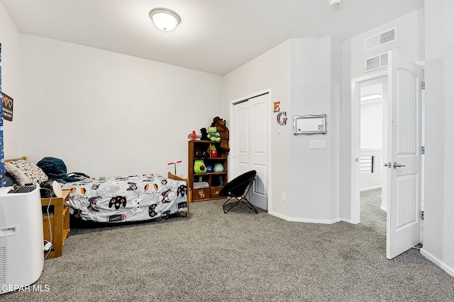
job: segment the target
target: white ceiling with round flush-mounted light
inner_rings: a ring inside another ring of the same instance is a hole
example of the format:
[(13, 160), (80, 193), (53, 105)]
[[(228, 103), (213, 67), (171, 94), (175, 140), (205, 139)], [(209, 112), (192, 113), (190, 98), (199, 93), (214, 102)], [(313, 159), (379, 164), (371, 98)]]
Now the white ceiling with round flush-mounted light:
[[(22, 33), (224, 75), (290, 38), (345, 40), (424, 0), (0, 0)], [(148, 12), (170, 8), (169, 33)]]

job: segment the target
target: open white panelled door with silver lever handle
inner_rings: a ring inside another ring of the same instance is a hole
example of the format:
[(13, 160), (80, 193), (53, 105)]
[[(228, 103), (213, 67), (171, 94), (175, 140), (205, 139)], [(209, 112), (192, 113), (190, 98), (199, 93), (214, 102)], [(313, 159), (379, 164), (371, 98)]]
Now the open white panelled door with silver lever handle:
[(388, 52), (387, 258), (421, 242), (421, 66)]

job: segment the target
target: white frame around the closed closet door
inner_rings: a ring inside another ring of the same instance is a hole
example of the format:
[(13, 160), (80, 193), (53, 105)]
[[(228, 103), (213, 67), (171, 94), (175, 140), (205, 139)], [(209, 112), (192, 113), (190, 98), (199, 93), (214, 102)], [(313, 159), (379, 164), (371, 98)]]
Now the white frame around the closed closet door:
[[(268, 161), (267, 161), (267, 173), (268, 173), (268, 183), (267, 187), (265, 188), (267, 192), (267, 197), (268, 197), (268, 211), (271, 209), (271, 197), (272, 197), (272, 174), (270, 173), (271, 170), (271, 157), (272, 157), (272, 152), (271, 152), (271, 122), (272, 122), (272, 110), (271, 110), (271, 102), (272, 102), (272, 89), (267, 88), (262, 91), (258, 91), (255, 93), (251, 93), (249, 95), (245, 95), (241, 98), (236, 98), (235, 100), (230, 101), (230, 120), (234, 121), (235, 120), (235, 105), (238, 103), (243, 103), (248, 101), (250, 98), (255, 98), (260, 95), (268, 94), (268, 100), (267, 100), (267, 108), (268, 108)], [(228, 127), (230, 128), (230, 133), (231, 136), (232, 134), (235, 135), (235, 123), (231, 122), (228, 124)], [(230, 145), (230, 149), (234, 150), (235, 149), (235, 139), (230, 139), (228, 144)], [(233, 180), (236, 176), (236, 158), (233, 156), (233, 152), (228, 153), (228, 181)]]

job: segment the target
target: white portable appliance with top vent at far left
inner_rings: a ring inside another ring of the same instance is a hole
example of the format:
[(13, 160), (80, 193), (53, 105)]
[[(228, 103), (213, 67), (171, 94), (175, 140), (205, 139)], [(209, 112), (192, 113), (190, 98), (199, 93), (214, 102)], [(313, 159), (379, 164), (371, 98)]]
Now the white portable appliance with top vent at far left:
[(39, 279), (44, 266), (43, 243), (38, 187), (0, 187), (0, 294)]

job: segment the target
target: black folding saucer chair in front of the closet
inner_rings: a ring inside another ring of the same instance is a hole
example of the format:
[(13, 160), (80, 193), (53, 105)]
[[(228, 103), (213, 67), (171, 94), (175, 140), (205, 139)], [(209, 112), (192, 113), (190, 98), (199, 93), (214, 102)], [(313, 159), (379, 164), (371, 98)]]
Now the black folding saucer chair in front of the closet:
[[(223, 186), (223, 188), (219, 192), (219, 195), (229, 197), (227, 201), (222, 205), (224, 214), (233, 209), (233, 207), (235, 207), (239, 202), (254, 211), (255, 214), (258, 214), (257, 209), (255, 209), (253, 204), (251, 204), (247, 198), (250, 187), (252, 187), (255, 180), (255, 175), (257, 175), (257, 172), (255, 170), (246, 172), (234, 178)], [(226, 211), (226, 204), (232, 198), (236, 199), (236, 203)]]

